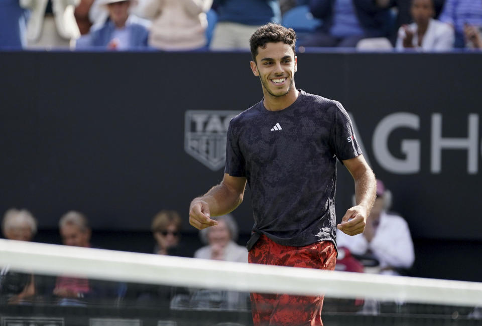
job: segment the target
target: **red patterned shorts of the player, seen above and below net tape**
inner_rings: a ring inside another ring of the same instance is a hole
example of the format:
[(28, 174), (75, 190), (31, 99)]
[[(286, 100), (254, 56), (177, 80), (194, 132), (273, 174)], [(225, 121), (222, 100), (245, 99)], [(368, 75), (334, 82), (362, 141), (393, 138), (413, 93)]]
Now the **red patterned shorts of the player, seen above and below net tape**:
[[(336, 249), (331, 241), (312, 243), (304, 247), (282, 246), (262, 235), (250, 250), (250, 263), (335, 269)], [(288, 294), (251, 293), (251, 308), (255, 326), (323, 325), (321, 308), (323, 295), (299, 296)]]

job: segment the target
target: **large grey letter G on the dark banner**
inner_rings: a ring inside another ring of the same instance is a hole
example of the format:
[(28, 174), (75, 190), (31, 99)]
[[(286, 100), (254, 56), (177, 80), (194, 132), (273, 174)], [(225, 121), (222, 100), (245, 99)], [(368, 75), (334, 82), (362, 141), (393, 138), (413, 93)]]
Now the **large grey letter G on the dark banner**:
[(396, 174), (414, 174), (420, 171), (420, 141), (404, 139), (401, 151), (405, 158), (397, 158), (388, 148), (388, 137), (393, 130), (406, 127), (418, 130), (420, 118), (413, 113), (397, 112), (383, 118), (373, 134), (373, 153), (382, 168)]

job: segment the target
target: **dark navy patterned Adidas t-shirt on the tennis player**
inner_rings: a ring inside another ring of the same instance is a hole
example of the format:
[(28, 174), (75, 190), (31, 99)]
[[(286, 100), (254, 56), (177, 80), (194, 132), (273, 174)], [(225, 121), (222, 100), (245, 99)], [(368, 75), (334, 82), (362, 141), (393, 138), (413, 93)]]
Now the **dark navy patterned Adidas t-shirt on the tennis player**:
[(300, 90), (296, 101), (269, 111), (263, 101), (233, 117), (225, 173), (246, 177), (253, 205), (248, 250), (265, 234), (305, 246), (336, 239), (336, 158), (362, 153), (339, 102)]

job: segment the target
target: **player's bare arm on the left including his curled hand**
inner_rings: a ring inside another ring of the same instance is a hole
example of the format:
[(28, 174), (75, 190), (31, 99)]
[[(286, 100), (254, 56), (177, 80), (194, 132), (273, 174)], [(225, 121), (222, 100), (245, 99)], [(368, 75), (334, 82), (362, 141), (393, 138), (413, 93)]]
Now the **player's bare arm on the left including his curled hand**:
[(204, 196), (194, 198), (189, 207), (189, 224), (204, 229), (217, 224), (211, 216), (223, 215), (243, 202), (246, 178), (224, 174), (222, 182), (211, 188)]

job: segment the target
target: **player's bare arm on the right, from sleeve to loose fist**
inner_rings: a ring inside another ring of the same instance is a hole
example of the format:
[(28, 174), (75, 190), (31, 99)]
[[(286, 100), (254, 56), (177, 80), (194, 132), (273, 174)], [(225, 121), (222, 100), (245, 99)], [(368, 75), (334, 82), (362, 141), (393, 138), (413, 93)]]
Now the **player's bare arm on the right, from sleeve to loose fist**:
[(362, 233), (377, 193), (377, 181), (363, 155), (343, 160), (355, 182), (356, 206), (348, 209), (337, 228), (348, 235)]

